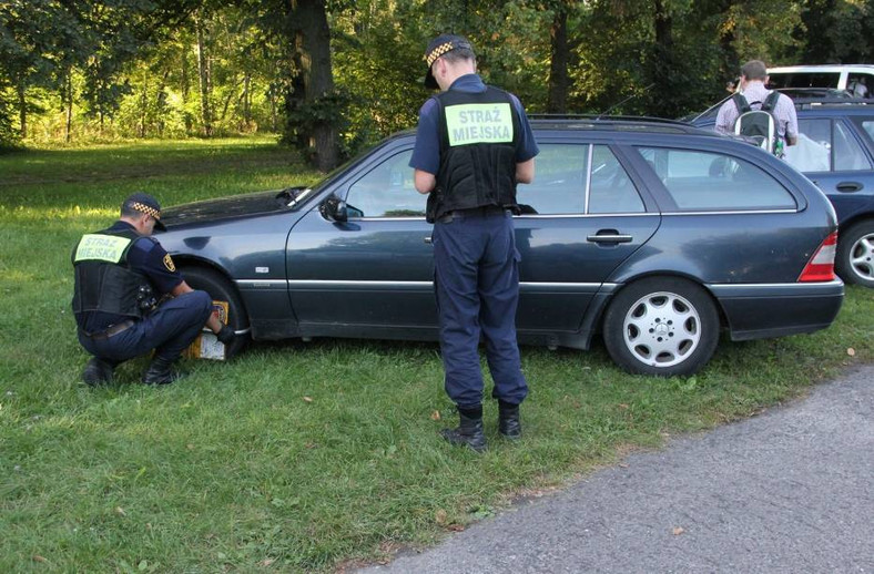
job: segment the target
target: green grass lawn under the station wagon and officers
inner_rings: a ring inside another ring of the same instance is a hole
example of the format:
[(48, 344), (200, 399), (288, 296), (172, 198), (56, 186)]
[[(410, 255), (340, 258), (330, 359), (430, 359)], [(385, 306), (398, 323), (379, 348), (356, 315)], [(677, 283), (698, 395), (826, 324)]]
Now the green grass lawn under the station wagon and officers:
[(874, 360), (874, 291), (812, 336), (732, 344), (692, 378), (603, 348), (522, 348), (526, 437), (454, 449), (437, 345), (251, 345), (166, 388), (80, 383), (70, 249), (133, 191), (164, 205), (313, 183), (265, 137), (0, 156), (0, 572), (298, 572), (426, 545), (671, 434), (749, 417)]

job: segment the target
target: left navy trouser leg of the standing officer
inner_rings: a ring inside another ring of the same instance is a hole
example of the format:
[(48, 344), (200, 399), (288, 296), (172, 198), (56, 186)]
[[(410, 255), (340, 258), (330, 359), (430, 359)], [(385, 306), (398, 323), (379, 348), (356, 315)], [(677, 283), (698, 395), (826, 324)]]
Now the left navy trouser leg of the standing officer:
[(440, 351), (449, 398), (463, 408), (482, 402), (479, 368), (478, 260), (481, 242), (469, 222), (455, 219), (434, 226), (435, 289), (440, 325)]

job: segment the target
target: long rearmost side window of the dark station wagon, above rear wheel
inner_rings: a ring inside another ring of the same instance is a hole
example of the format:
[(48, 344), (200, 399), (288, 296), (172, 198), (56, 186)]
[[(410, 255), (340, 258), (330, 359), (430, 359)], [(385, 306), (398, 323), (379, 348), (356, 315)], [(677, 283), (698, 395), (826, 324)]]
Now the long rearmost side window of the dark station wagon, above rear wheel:
[(761, 167), (713, 152), (639, 147), (682, 211), (794, 209), (795, 199)]

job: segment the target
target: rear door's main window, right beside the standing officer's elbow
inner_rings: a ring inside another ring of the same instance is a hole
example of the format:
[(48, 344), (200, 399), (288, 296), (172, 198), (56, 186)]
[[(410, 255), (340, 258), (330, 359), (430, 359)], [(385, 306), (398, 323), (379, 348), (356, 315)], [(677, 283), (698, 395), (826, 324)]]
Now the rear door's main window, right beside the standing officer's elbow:
[(522, 215), (585, 213), (589, 146), (540, 144), (539, 147), (533, 182), (516, 187), (516, 201)]

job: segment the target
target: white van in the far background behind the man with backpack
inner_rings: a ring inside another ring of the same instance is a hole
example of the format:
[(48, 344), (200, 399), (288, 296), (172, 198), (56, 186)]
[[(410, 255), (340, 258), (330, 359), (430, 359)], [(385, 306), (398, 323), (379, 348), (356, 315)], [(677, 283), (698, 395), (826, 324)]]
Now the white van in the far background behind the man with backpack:
[(834, 88), (874, 98), (874, 64), (785, 65), (770, 68), (768, 75), (771, 89)]

